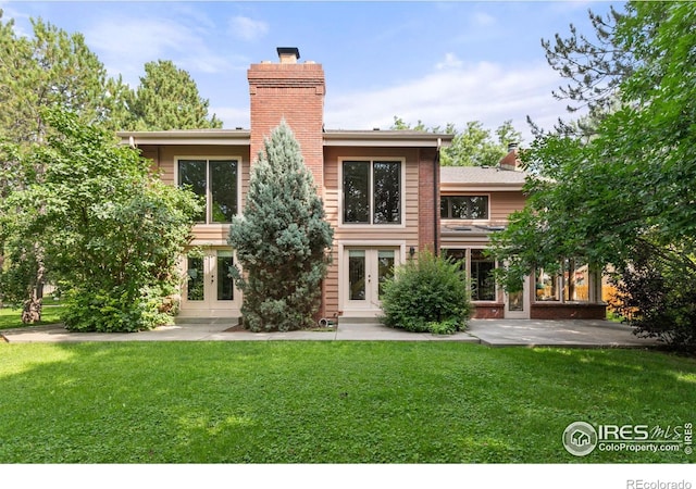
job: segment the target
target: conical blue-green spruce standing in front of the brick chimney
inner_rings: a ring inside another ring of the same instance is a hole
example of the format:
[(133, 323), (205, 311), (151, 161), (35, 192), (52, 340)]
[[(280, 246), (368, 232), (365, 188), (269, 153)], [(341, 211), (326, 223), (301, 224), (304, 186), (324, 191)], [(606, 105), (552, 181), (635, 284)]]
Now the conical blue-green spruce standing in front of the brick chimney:
[(244, 269), (234, 271), (244, 292), (244, 324), (253, 331), (306, 328), (321, 298), (333, 230), (285, 122), (264, 147), (252, 167), (244, 215), (234, 220), (228, 238)]

